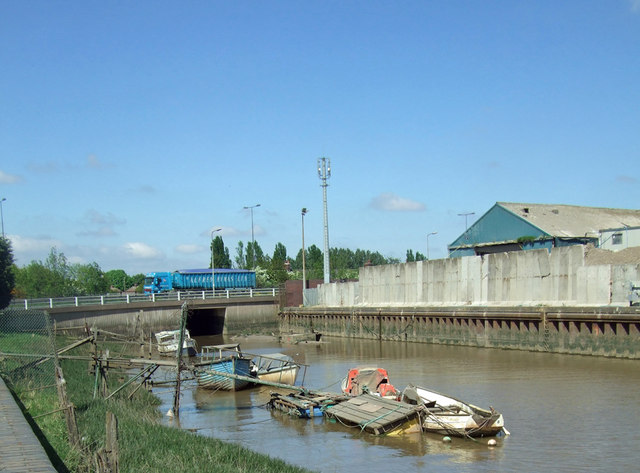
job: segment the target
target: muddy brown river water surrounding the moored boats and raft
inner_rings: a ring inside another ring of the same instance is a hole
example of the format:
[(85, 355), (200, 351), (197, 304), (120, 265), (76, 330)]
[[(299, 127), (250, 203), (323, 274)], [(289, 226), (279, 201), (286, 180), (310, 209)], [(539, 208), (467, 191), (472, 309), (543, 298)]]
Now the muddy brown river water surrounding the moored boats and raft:
[[(414, 383), (493, 406), (511, 435), (498, 438), (495, 447), (488, 439), (445, 443), (435, 434), (376, 437), (323, 418), (267, 410), (273, 388), (210, 392), (189, 383), (179, 424), (165, 416), (166, 424), (319, 472), (638, 471), (638, 361), (340, 338), (290, 345), (260, 338), (198, 339), (200, 344), (236, 341), (250, 353), (282, 352), (309, 365), (304, 385), (314, 390), (339, 391), (352, 367), (386, 368), (399, 389)], [(167, 412), (173, 394), (157, 394)]]

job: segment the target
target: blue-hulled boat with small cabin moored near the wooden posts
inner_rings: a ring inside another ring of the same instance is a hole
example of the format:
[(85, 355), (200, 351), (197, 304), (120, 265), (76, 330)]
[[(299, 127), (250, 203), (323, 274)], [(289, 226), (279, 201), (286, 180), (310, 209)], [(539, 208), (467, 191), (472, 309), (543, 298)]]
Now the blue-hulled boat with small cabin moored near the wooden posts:
[(203, 346), (200, 358), (193, 369), (198, 386), (240, 391), (252, 384), (251, 357), (242, 353), (239, 344)]

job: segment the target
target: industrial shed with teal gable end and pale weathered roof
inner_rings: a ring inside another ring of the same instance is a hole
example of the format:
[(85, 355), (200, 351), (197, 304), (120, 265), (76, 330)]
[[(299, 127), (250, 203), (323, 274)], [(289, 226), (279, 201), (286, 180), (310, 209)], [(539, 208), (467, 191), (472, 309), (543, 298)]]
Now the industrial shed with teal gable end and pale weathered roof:
[(588, 243), (640, 246), (640, 210), (496, 202), (448, 248), (460, 257)]

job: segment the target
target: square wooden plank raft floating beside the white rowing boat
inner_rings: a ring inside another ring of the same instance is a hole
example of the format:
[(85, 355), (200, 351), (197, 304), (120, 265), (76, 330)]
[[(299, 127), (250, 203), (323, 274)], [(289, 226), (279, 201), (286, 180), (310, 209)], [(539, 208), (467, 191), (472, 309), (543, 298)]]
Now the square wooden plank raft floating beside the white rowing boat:
[(419, 432), (422, 406), (362, 394), (327, 407), (325, 414), (347, 426), (358, 426), (374, 435)]

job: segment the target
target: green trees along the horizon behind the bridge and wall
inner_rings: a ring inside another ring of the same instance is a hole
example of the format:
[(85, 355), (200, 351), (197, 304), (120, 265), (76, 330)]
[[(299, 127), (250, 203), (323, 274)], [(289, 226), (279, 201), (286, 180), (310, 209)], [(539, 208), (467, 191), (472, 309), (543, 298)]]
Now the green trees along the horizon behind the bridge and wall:
[[(276, 287), (288, 279), (302, 279), (302, 249), (296, 256), (288, 254), (277, 243), (272, 254), (265, 253), (257, 241), (238, 242), (233, 260), (221, 236), (211, 242), (209, 268), (252, 269), (256, 271), (259, 287)], [(306, 279), (322, 279), (324, 254), (316, 245), (305, 250)], [(406, 261), (420, 261), (424, 255), (407, 250)], [(357, 279), (359, 268), (365, 265), (399, 263), (377, 251), (330, 248), (330, 276), (332, 280)], [(180, 268), (175, 268), (180, 269)], [(44, 261), (31, 261), (24, 267), (14, 263), (11, 242), (0, 237), (0, 309), (11, 299), (41, 297), (73, 297), (124, 292), (132, 288), (143, 291), (144, 274), (128, 275), (122, 269), (103, 271), (98, 263), (70, 264), (64, 253), (51, 248)]]

